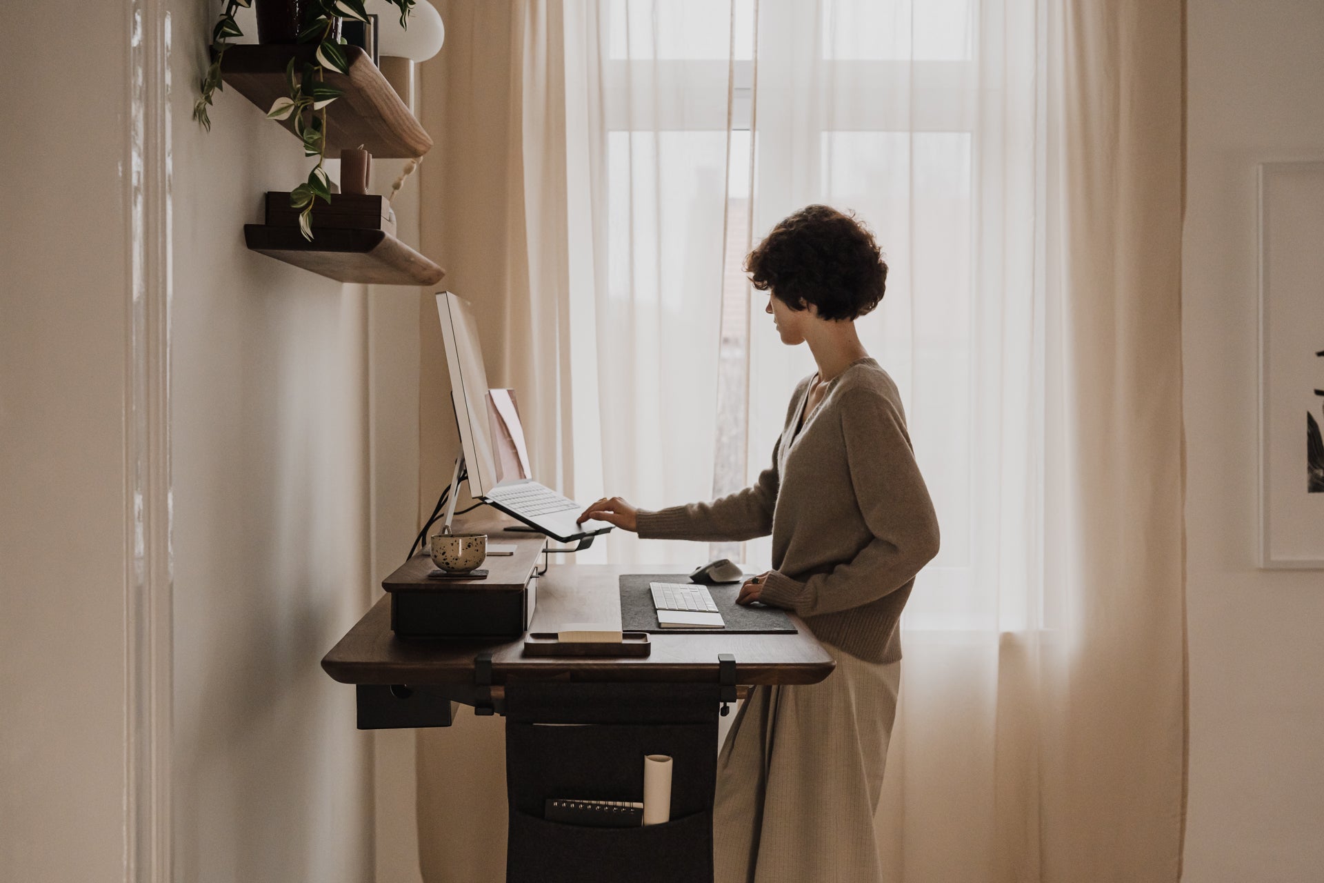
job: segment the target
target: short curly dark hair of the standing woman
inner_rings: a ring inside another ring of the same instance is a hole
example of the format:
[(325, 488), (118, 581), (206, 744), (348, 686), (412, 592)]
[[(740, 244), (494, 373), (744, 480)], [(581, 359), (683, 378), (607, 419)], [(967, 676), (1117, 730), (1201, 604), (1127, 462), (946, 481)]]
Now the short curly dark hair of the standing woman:
[(806, 205), (772, 228), (745, 257), (760, 291), (792, 310), (818, 308), (822, 319), (858, 319), (883, 299), (887, 263), (874, 234), (830, 205)]

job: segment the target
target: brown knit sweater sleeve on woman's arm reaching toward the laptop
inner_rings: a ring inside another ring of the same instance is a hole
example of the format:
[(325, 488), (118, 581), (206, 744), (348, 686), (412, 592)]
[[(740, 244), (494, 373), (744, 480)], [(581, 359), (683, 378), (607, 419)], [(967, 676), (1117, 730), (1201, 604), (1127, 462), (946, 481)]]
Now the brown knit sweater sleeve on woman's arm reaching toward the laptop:
[(777, 455), (781, 440), (772, 446), (772, 466), (752, 486), (711, 503), (673, 506), (655, 512), (639, 510), (639, 537), (646, 540), (703, 540), (739, 543), (772, 532), (777, 503)]

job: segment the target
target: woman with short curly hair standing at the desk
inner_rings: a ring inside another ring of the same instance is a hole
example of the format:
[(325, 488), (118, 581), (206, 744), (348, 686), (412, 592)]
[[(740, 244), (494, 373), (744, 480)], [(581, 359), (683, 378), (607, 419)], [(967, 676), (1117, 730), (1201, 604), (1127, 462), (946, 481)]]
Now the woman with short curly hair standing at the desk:
[(621, 498), (580, 516), (641, 537), (739, 541), (772, 534), (773, 569), (740, 604), (798, 613), (837, 661), (818, 684), (756, 687), (718, 764), (719, 883), (880, 880), (874, 812), (900, 682), (896, 622), (937, 553), (937, 518), (915, 465), (896, 384), (855, 319), (887, 265), (853, 217), (810, 205), (745, 259), (788, 346), (818, 371), (790, 397), (772, 466), (753, 487), (655, 512)]

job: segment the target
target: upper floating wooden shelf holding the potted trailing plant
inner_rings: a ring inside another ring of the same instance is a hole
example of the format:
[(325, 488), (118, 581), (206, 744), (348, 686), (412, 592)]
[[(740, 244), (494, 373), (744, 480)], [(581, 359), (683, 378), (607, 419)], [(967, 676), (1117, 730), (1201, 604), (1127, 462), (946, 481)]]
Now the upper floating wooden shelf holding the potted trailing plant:
[[(312, 62), (316, 46), (240, 44), (225, 50), (221, 78), (265, 114), (277, 98), (289, 95), (285, 66), (295, 57), (295, 71)], [(327, 106), (327, 156), (360, 144), (373, 156), (417, 158), (432, 150), (432, 138), (357, 46), (344, 46), (350, 73), (326, 71), (326, 82), (344, 95)], [(282, 123), (291, 132), (293, 122)]]

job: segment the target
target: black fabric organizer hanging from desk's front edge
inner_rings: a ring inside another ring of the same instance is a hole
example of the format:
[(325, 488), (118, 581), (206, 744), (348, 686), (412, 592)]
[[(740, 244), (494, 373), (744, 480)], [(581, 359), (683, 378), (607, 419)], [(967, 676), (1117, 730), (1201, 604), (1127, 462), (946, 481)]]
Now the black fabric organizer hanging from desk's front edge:
[[(507, 683), (507, 882), (711, 883), (718, 706), (716, 684)], [(643, 800), (645, 755), (673, 757), (670, 822), (543, 818), (547, 798)]]

